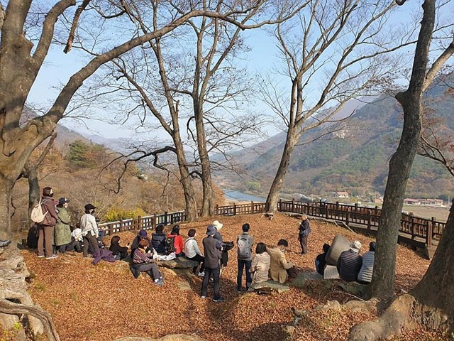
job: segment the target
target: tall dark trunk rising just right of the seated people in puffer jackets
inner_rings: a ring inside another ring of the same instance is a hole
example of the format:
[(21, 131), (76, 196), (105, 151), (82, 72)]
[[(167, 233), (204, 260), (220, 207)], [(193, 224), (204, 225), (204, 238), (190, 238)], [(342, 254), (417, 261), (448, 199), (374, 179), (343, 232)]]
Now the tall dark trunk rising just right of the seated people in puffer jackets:
[(374, 273), (370, 285), (372, 296), (377, 298), (394, 296), (397, 238), (406, 183), (421, 136), (421, 97), (426, 82), (428, 53), (435, 23), (435, 2), (426, 0), (423, 3), (423, 20), (416, 43), (409, 88), (396, 95), (404, 109), (404, 127), (397, 151), (389, 161), (388, 180), (377, 232)]

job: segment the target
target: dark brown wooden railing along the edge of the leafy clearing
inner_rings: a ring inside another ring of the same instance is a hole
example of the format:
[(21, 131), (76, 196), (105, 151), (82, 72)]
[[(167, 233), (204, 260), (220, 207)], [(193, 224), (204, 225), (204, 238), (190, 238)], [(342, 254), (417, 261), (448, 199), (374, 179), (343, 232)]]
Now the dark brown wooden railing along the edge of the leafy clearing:
[[(364, 207), (355, 205), (345, 205), (339, 202), (298, 202), (279, 200), (277, 203), (279, 212), (292, 212), (306, 214), (313, 217), (323, 217), (329, 220), (345, 222), (347, 225), (359, 225), (365, 227), (368, 232), (375, 231), (380, 223), (382, 210), (375, 207)], [(265, 202), (250, 202), (243, 205), (216, 205), (214, 215), (251, 215), (254, 213), (265, 212)], [(155, 229), (157, 224), (176, 224), (184, 222), (186, 214), (184, 211), (164, 212), (160, 215), (150, 215), (147, 217), (137, 217), (136, 219), (119, 220), (117, 222), (107, 222), (99, 224), (99, 227), (106, 229), (106, 234), (116, 234), (118, 232)], [(425, 240), (426, 245), (432, 244), (432, 239), (439, 239), (445, 228), (445, 222), (438, 222), (434, 217), (431, 220), (415, 217), (402, 213), (400, 232), (409, 235), (410, 240), (416, 237)], [(421, 243), (421, 242), (419, 242)]]

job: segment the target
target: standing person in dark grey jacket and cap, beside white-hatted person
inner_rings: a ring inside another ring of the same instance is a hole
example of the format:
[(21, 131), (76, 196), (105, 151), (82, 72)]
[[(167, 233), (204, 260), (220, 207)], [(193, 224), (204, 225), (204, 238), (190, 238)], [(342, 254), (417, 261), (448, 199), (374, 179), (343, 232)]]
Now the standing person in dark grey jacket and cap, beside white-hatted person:
[(214, 298), (213, 302), (222, 302), (223, 298), (221, 297), (221, 288), (219, 283), (219, 276), (221, 271), (221, 264), (219, 259), (221, 259), (221, 242), (218, 239), (214, 238), (216, 234), (216, 228), (213, 225), (209, 225), (206, 228), (206, 237), (203, 239), (202, 244), (204, 245), (204, 254), (205, 254), (205, 276), (204, 281), (201, 285), (201, 298), (206, 298), (206, 289), (208, 288), (208, 283), (211, 276), (214, 280)]

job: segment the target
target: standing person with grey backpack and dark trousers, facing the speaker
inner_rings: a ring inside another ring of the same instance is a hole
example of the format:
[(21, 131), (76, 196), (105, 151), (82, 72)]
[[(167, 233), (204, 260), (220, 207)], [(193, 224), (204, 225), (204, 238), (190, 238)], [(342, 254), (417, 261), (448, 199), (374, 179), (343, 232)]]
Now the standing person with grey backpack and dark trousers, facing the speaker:
[(250, 266), (253, 261), (253, 245), (254, 238), (249, 234), (250, 225), (248, 223), (243, 224), (243, 233), (236, 239), (236, 245), (238, 246), (238, 276), (236, 277), (236, 291), (240, 293), (242, 291), (243, 282), (243, 271), (246, 271), (246, 291), (249, 290), (252, 278), (250, 274)]

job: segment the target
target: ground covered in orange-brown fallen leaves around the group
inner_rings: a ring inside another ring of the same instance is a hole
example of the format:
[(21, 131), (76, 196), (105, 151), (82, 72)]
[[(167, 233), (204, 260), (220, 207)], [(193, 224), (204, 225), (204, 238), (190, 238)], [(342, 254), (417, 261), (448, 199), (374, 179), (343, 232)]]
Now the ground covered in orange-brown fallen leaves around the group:
[[(362, 252), (372, 240), (347, 229), (324, 222), (311, 222), (309, 254), (301, 255), (297, 232), (299, 221), (285, 215), (267, 220), (261, 215), (217, 217), (223, 222), (225, 241), (236, 240), (245, 222), (251, 225), (255, 242), (272, 247), (280, 238), (289, 241), (287, 259), (299, 271), (314, 271), (314, 259), (323, 243), (331, 243), (337, 233), (350, 240), (358, 239)], [(206, 225), (210, 221), (182, 224), (181, 233), (196, 228), (201, 245)], [(167, 227), (169, 229), (169, 227)], [(135, 234), (123, 232), (121, 244), (132, 242)], [(106, 237), (108, 242), (109, 237)], [(221, 276), (221, 294), (225, 303), (213, 303), (200, 298), (201, 278), (178, 276), (162, 269), (165, 285), (158, 287), (148, 276), (134, 279), (123, 262), (97, 266), (82, 254), (65, 254), (52, 261), (38, 259), (33, 251), (23, 251), (28, 269), (33, 272), (30, 293), (33, 299), (52, 315), (62, 340), (114, 340), (125, 335), (162, 337), (167, 334), (196, 334), (206, 340), (284, 340), (283, 327), (292, 324), (291, 308), (308, 310), (310, 315), (299, 323), (294, 340), (346, 340), (348, 330), (361, 320), (375, 317), (374, 313), (314, 310), (328, 300), (343, 303), (349, 296), (336, 289), (312, 281), (303, 289), (291, 288), (287, 293), (258, 296), (236, 292), (236, 248), (229, 252), (231, 261)], [(408, 291), (423, 276), (429, 262), (406, 247), (398, 248), (397, 292)], [(245, 278), (243, 278), (245, 281)], [(212, 297), (212, 292), (209, 291)], [(396, 340), (436, 340), (436, 335), (417, 330)]]

